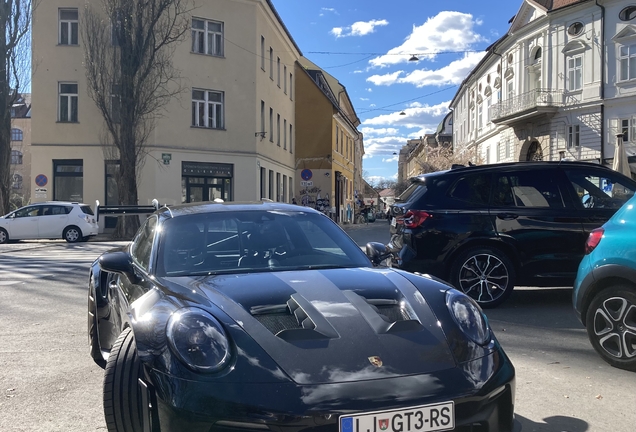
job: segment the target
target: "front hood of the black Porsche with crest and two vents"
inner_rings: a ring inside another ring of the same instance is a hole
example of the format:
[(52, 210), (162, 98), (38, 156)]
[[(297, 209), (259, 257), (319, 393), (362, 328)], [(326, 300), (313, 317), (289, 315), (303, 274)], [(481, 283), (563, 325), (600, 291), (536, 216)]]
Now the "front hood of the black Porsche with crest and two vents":
[(424, 296), (390, 269), (253, 273), (189, 281), (298, 384), (416, 375), (455, 365)]

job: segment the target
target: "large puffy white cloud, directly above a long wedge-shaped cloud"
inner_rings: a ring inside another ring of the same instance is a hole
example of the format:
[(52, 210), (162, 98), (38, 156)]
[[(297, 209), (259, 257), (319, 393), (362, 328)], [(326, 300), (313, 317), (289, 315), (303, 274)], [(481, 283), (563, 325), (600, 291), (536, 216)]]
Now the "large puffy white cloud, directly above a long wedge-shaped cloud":
[(421, 26), (413, 26), (413, 31), (402, 45), (392, 48), (386, 55), (371, 59), (369, 64), (385, 67), (407, 63), (413, 54), (418, 54), (420, 60), (432, 60), (440, 52), (469, 50), (473, 44), (485, 41), (474, 30), (480, 24), (481, 20), (475, 20), (470, 14), (440, 12)]

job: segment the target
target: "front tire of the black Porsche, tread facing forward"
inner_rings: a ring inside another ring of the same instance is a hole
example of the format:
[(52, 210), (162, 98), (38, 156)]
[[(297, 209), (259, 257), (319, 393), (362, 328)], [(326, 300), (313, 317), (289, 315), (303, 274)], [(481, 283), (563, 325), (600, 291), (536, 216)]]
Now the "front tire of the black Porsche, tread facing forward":
[(143, 432), (140, 377), (137, 345), (127, 328), (115, 341), (104, 371), (104, 418), (108, 432)]

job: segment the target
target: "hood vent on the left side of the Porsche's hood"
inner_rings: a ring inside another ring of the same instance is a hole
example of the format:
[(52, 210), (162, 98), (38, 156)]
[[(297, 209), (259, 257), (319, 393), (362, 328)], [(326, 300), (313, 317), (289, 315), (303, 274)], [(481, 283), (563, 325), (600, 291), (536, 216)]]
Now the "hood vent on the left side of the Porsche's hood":
[(300, 294), (292, 294), (286, 304), (254, 306), (250, 313), (270, 332), (288, 342), (340, 337), (325, 317)]

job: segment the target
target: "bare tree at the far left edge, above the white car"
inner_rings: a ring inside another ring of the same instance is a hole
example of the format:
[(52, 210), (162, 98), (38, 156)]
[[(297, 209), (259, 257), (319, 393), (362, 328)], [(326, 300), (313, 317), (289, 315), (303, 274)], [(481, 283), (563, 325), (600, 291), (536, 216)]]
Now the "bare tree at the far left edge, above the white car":
[(11, 201), (11, 108), (28, 85), (31, 17), (37, 0), (0, 0), (0, 214)]

